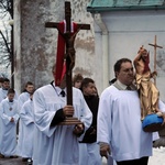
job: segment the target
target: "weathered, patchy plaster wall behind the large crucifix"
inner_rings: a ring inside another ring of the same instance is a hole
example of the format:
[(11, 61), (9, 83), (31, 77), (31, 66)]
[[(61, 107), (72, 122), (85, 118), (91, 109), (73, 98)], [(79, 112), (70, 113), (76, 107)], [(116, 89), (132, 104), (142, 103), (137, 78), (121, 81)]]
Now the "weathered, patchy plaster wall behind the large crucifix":
[[(94, 19), (87, 12), (88, 3), (89, 0), (70, 1), (72, 21), (90, 24), (90, 30), (80, 30), (76, 35), (73, 75), (80, 73), (84, 77), (94, 78), (97, 84), (101, 70), (95, 54)], [(63, 21), (64, 6), (65, 0), (14, 0), (14, 87), (19, 92), (29, 80), (36, 89), (53, 80), (57, 30), (45, 28), (45, 23)]]

